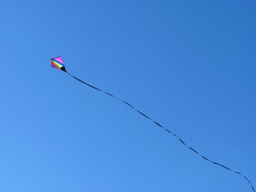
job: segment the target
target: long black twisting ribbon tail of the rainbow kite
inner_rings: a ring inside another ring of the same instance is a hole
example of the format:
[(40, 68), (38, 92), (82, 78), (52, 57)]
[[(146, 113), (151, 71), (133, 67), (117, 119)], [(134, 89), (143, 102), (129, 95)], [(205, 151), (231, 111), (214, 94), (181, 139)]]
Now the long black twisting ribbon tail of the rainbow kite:
[[(66, 72), (67, 72), (67, 71), (66, 71)], [(185, 145), (187, 148), (189, 148), (190, 150), (192, 150), (193, 152), (195, 152), (196, 154), (198, 154), (200, 157), (202, 157), (202, 158), (205, 159), (206, 161), (209, 161), (209, 162), (211, 162), (211, 163), (213, 163), (213, 164), (216, 164), (216, 165), (218, 165), (218, 166), (221, 166), (221, 167), (225, 168), (226, 170), (228, 170), (228, 171), (230, 171), (230, 172), (234, 172), (234, 173), (237, 173), (237, 174), (243, 176), (244, 179), (246, 179), (246, 180), (249, 182), (250, 186), (252, 187), (253, 191), (255, 192), (255, 189), (253, 188), (252, 183), (250, 182), (250, 180), (249, 180), (247, 177), (245, 177), (242, 173), (236, 172), (236, 171), (234, 171), (234, 170), (228, 168), (227, 166), (224, 166), (223, 164), (216, 163), (216, 162), (211, 161), (210, 159), (206, 158), (205, 156), (202, 156), (202, 154), (200, 154), (199, 152), (197, 152), (194, 148), (189, 147), (189, 145), (187, 145), (184, 141), (182, 141), (182, 139), (180, 139), (179, 136), (177, 136), (176, 134), (174, 134), (172, 131), (170, 131), (170, 130), (164, 128), (162, 125), (160, 125), (160, 124), (157, 123), (156, 121), (152, 120), (152, 118), (148, 117), (147, 115), (145, 115), (144, 113), (142, 113), (142, 112), (139, 111), (138, 109), (134, 108), (134, 106), (132, 106), (132, 105), (129, 104), (128, 102), (125, 102), (124, 100), (122, 100), (122, 99), (120, 99), (120, 98), (116, 97), (115, 95), (112, 95), (112, 94), (110, 94), (110, 93), (108, 93), (108, 92), (104, 92), (103, 90), (100, 90), (99, 88), (97, 88), (97, 87), (95, 87), (95, 86), (92, 86), (92, 85), (90, 85), (90, 84), (88, 84), (88, 83), (85, 83), (84, 81), (78, 79), (77, 77), (72, 76), (72, 74), (70, 74), (70, 73), (68, 73), (68, 72), (67, 72), (67, 74), (70, 75), (71, 77), (73, 77), (74, 79), (80, 81), (81, 83), (84, 83), (84, 84), (86, 84), (87, 86), (90, 86), (91, 88), (93, 88), (93, 89), (95, 89), (95, 90), (98, 90), (99, 92), (106, 93), (107, 95), (110, 95), (111, 97), (114, 97), (115, 99), (120, 100), (121, 102), (124, 102), (125, 104), (127, 104), (127, 106), (130, 106), (132, 109), (136, 110), (138, 113), (140, 113), (141, 115), (145, 116), (145, 118), (148, 118), (148, 120), (154, 122), (154, 124), (158, 125), (159, 127), (163, 128), (163, 129), (164, 129), (165, 131), (167, 131), (168, 133), (170, 133), (170, 134), (172, 134), (173, 136), (175, 136), (175, 138), (177, 138), (178, 140), (180, 140), (180, 142), (181, 142), (183, 145)]]

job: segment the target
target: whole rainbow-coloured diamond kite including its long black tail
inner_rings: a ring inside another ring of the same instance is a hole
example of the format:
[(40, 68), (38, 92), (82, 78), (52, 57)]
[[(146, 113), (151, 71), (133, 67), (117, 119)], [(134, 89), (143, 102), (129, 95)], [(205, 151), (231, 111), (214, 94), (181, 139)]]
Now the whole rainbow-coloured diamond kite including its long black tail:
[(104, 92), (103, 90), (100, 90), (99, 88), (95, 87), (95, 86), (92, 86), (91, 84), (88, 84), (88, 83), (85, 83), (84, 81), (78, 79), (77, 77), (73, 76), (72, 74), (68, 73), (66, 68), (65, 68), (65, 65), (64, 65), (64, 62), (61, 58), (61, 56), (59, 57), (56, 57), (56, 58), (52, 58), (51, 59), (51, 65), (52, 67), (54, 68), (58, 68), (60, 70), (63, 70), (63, 72), (66, 72), (68, 75), (70, 75), (71, 77), (73, 77), (74, 79), (76, 79), (77, 81), (80, 81), (81, 83), (83, 84), (86, 84), (87, 86), (90, 86), (91, 88), (95, 89), (95, 90), (98, 90), (99, 92), (103, 92), (103, 93), (106, 93), (107, 95), (111, 96), (111, 97), (114, 97), (115, 99), (119, 100), (120, 102), (123, 102), (124, 104), (126, 104), (127, 106), (131, 107), (132, 109), (134, 109), (135, 111), (137, 111), (138, 113), (140, 113), (140, 115), (144, 116), (145, 118), (147, 118), (148, 120), (152, 121), (154, 124), (156, 124), (157, 126), (161, 127), (162, 129), (164, 129), (165, 131), (167, 131), (168, 133), (172, 134), (173, 136), (175, 136), (175, 138), (177, 138), (183, 145), (185, 145), (187, 148), (189, 148), (190, 150), (192, 150), (193, 152), (195, 152), (196, 154), (198, 154), (200, 157), (202, 157), (203, 159), (205, 159), (205, 161), (209, 161), (210, 163), (212, 164), (216, 164), (218, 166), (221, 166), (222, 168), (225, 168), (226, 170), (230, 171), (230, 172), (234, 172), (234, 173), (237, 173), (238, 175), (241, 175), (242, 177), (244, 177), (244, 179), (246, 179), (250, 186), (252, 187), (252, 190), (255, 192), (255, 189), (253, 188), (253, 185), (252, 183), (250, 182), (250, 180), (244, 176), (242, 173), (240, 172), (236, 172), (230, 168), (228, 168), (227, 166), (224, 166), (223, 164), (220, 164), (220, 163), (216, 163), (208, 158), (206, 158), (205, 156), (203, 156), (202, 154), (200, 154), (200, 152), (197, 152), (194, 148), (192, 147), (189, 147), (189, 145), (187, 145), (179, 136), (177, 136), (177, 134), (173, 133), (172, 131), (170, 131), (169, 129), (166, 129), (165, 127), (163, 127), (161, 124), (157, 123), (155, 120), (153, 120), (152, 118), (148, 117), (147, 115), (145, 115), (144, 113), (142, 113), (141, 111), (139, 111), (138, 109), (134, 108), (134, 106), (132, 106), (131, 104), (129, 104), (128, 102), (125, 102), (124, 100), (116, 97), (115, 95), (112, 95), (111, 93), (108, 93), (108, 92)]

